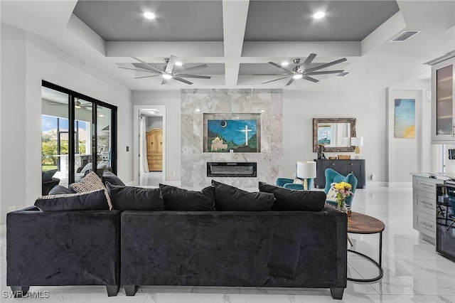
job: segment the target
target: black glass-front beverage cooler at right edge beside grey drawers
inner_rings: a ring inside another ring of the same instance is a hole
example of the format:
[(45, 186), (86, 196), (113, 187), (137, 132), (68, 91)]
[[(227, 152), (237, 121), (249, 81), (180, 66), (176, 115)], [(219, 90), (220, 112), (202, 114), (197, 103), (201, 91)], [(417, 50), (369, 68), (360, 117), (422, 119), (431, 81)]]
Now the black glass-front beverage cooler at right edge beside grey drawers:
[(455, 181), (437, 186), (436, 250), (455, 262)]

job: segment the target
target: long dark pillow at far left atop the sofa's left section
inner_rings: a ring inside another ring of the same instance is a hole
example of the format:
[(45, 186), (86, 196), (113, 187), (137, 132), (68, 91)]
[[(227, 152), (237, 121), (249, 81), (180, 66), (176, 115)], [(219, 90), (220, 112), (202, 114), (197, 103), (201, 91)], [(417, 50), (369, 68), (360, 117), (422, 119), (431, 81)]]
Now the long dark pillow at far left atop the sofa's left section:
[(41, 196), (35, 201), (41, 211), (103, 211), (108, 210), (105, 191), (86, 191), (63, 195)]

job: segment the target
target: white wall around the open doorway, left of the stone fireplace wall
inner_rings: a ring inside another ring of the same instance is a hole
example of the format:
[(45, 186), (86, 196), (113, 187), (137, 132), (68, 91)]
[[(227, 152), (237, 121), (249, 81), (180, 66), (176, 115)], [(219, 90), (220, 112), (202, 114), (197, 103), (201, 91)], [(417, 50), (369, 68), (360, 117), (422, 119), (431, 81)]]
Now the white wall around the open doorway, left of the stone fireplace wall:
[[(134, 107), (139, 105), (164, 105), (166, 106), (166, 152), (165, 181), (181, 180), (181, 92), (173, 91), (134, 91), (132, 93), (132, 103)], [(136, 115), (134, 113), (134, 115)], [(136, 144), (139, 145), (139, 144)], [(135, 154), (139, 154), (134, 150)], [(175, 176), (174, 176), (175, 173)], [(134, 173), (134, 184), (139, 184), (139, 174)]]

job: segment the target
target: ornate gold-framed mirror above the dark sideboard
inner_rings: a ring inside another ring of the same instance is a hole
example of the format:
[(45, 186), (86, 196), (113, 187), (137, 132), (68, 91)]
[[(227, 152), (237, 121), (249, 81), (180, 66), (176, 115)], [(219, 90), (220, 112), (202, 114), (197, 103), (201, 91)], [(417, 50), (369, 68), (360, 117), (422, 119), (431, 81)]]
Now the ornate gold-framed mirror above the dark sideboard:
[(313, 118), (313, 151), (325, 144), (326, 152), (351, 152), (350, 138), (356, 137), (355, 118)]

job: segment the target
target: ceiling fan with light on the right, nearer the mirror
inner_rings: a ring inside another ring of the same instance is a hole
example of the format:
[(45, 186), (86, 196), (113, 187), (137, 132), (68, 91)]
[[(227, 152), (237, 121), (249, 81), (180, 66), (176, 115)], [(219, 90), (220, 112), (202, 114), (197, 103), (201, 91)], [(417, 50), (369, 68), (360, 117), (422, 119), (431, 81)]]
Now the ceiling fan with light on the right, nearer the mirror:
[(314, 68), (309, 68), (309, 65), (314, 60), (314, 58), (316, 58), (316, 54), (315, 53), (311, 53), (308, 56), (308, 58), (306, 58), (306, 60), (304, 60), (304, 63), (300, 63), (301, 59), (299, 59), (299, 58), (294, 59), (294, 63), (296, 64), (296, 66), (292, 70), (289, 70), (288, 68), (284, 68), (282, 65), (279, 65), (277, 63), (269, 62), (269, 64), (272, 64), (272, 65), (274, 65), (277, 68), (281, 68), (282, 70), (285, 70), (287, 73), (283, 73), (283, 74), (255, 74), (255, 75), (284, 75), (284, 77), (282, 77), (282, 78), (278, 78), (278, 79), (275, 79), (275, 80), (267, 81), (267, 82), (264, 82), (262, 84), (270, 83), (270, 82), (274, 82), (274, 81), (278, 81), (278, 80), (282, 80), (282, 79), (286, 79), (286, 78), (291, 78), (291, 79), (289, 79), (289, 82), (286, 84), (286, 86), (287, 86), (287, 85), (290, 85), (291, 83), (293, 83), (294, 80), (302, 79), (302, 78), (305, 79), (305, 80), (309, 80), (311, 82), (314, 82), (314, 83), (319, 82), (319, 80), (310, 77), (311, 75), (340, 74), (340, 73), (344, 72), (344, 70), (325, 70), (325, 71), (317, 71), (317, 70), (321, 70), (323, 68), (328, 68), (329, 66), (336, 65), (338, 63), (342, 63), (342, 62), (346, 61), (346, 58), (342, 58), (342, 59), (338, 59), (338, 60), (335, 60), (335, 61), (332, 61), (332, 62), (329, 62), (329, 63), (321, 64), (321, 65), (318, 65), (318, 66), (316, 66)]

